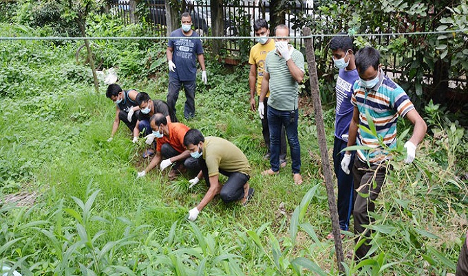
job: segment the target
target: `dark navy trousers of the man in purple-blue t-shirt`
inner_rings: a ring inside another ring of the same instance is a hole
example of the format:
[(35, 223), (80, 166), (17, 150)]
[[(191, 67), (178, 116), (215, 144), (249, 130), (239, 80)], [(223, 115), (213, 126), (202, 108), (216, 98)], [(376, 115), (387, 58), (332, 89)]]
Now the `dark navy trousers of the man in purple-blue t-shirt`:
[[(337, 176), (338, 183), (337, 207), (339, 228), (345, 231), (348, 231), (352, 206), (354, 205), (354, 186), (352, 185), (352, 174), (345, 174), (345, 172), (341, 170), (341, 160), (343, 160), (343, 157), (345, 156), (345, 152), (341, 152), (341, 150), (343, 150), (343, 148), (346, 148), (347, 143), (347, 141), (343, 141), (336, 136), (334, 137), (333, 165), (334, 174)], [(355, 152), (352, 152), (351, 161), (354, 161), (354, 154)], [(352, 171), (352, 164), (353, 162), (350, 162), (350, 171)]]

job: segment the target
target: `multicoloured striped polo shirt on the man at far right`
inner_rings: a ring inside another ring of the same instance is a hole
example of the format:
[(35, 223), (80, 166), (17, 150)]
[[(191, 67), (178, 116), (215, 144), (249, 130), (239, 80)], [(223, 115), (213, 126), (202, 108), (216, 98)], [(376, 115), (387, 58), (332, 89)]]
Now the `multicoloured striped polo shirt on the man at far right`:
[[(354, 93), (351, 104), (359, 109), (359, 124), (369, 128), (368, 120), (372, 119), (376, 128), (377, 136), (358, 128), (358, 146), (369, 146), (373, 150), (357, 150), (357, 156), (361, 161), (379, 163), (387, 157), (387, 150), (380, 146), (379, 140), (383, 141), (388, 148), (396, 146), (396, 121), (399, 116), (405, 115), (414, 109), (405, 91), (390, 80), (383, 71), (380, 71), (379, 83), (372, 89), (366, 89), (357, 80), (354, 82)], [(368, 111), (370, 118), (365, 112)]]

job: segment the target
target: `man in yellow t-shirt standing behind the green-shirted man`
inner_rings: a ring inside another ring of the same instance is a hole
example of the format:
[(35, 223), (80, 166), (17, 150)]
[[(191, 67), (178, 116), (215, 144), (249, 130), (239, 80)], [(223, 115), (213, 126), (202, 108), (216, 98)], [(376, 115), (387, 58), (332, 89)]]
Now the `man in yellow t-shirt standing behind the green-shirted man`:
[[(253, 45), (251, 49), (251, 54), (248, 57), (248, 63), (251, 65), (251, 71), (248, 74), (248, 86), (251, 90), (251, 109), (255, 111), (257, 105), (255, 104), (255, 91), (257, 95), (260, 96), (260, 91), (262, 88), (262, 80), (265, 71), (265, 59), (268, 52), (275, 50), (275, 41), (268, 38), (270, 36), (270, 29), (268, 29), (268, 23), (265, 19), (257, 19), (253, 23), (253, 30), (255, 36), (257, 36), (257, 44)], [(265, 100), (263, 105), (265, 107), (265, 112), (268, 113), (268, 97), (270, 96), (270, 91), (266, 92)], [(264, 137), (265, 145), (267, 152), (264, 156), (264, 159), (270, 159), (270, 128), (268, 128), (268, 117), (264, 116), (262, 119), (262, 134)], [(279, 164), (281, 168), (286, 167), (286, 133), (284, 128), (281, 128), (281, 141), (279, 149)]]

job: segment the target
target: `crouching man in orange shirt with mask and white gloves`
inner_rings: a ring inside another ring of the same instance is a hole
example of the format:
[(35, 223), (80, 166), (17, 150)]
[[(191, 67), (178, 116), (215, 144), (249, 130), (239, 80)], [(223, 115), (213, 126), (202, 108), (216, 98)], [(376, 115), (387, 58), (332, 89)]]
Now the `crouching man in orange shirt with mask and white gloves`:
[(171, 172), (169, 172), (169, 180), (172, 180), (179, 170), (184, 170), (184, 167), (193, 168), (192, 163), (198, 164), (198, 161), (190, 156), (190, 151), (184, 146), (185, 133), (190, 129), (188, 126), (167, 122), (167, 118), (162, 113), (151, 116), (149, 124), (153, 133), (147, 136), (146, 143), (151, 145), (156, 138), (156, 155), (145, 170), (138, 172), (137, 178), (145, 176), (161, 163), (161, 170), (172, 165)]

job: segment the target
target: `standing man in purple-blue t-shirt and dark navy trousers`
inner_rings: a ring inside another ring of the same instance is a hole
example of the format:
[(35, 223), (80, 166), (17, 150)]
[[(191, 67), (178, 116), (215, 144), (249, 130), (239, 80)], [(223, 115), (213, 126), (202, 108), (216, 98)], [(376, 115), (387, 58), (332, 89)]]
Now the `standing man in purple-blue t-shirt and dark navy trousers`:
[[(344, 32), (339, 33), (345, 35)], [(352, 86), (359, 80), (356, 65), (354, 64), (354, 46), (350, 36), (334, 36), (330, 41), (332, 50), (332, 59), (334, 66), (339, 69), (337, 85), (335, 91), (337, 94), (337, 108), (335, 110), (336, 118), (334, 120), (334, 143), (333, 143), (333, 165), (334, 174), (337, 176), (338, 183), (338, 218), (341, 230), (348, 231), (350, 225), (350, 216), (352, 210), (353, 190), (352, 175), (346, 174), (341, 169), (341, 160), (343, 160), (343, 148), (348, 144), (348, 130), (352, 119), (354, 106), (351, 104)], [(354, 152), (351, 159), (354, 158)], [(348, 171), (351, 166), (348, 165)], [(343, 234), (341, 238), (343, 238)], [(333, 238), (333, 233), (328, 234), (328, 239)]]

